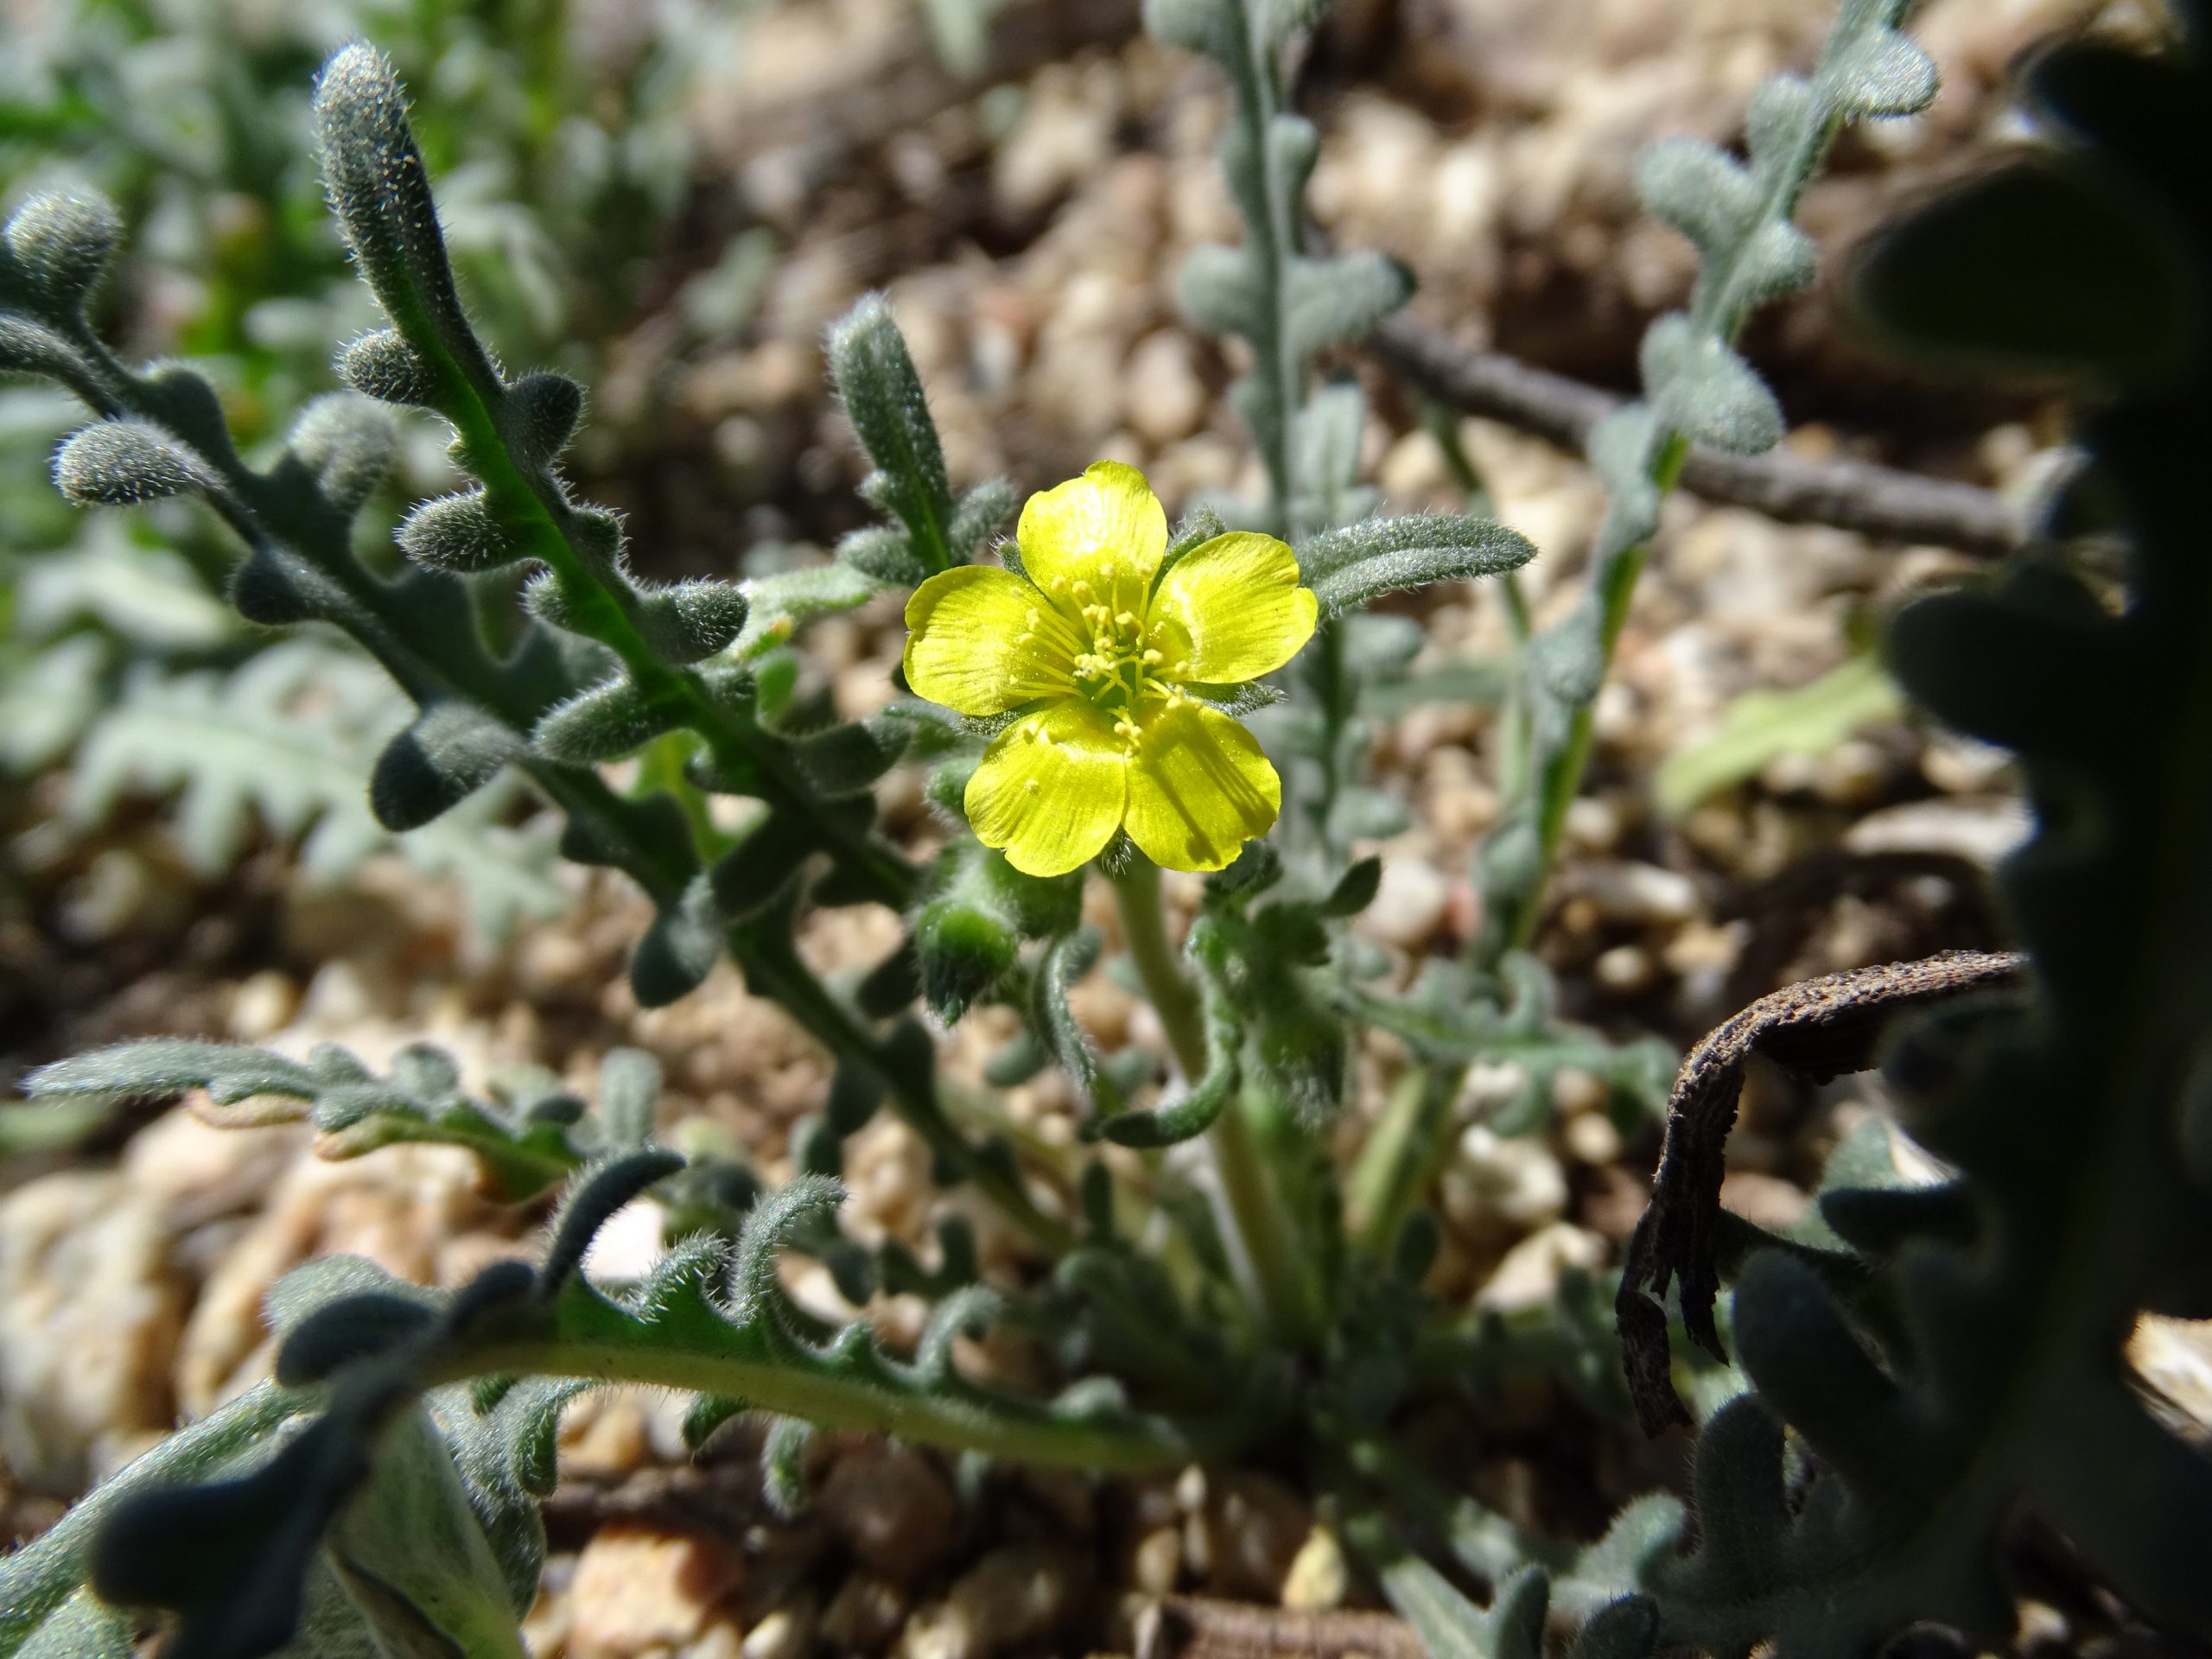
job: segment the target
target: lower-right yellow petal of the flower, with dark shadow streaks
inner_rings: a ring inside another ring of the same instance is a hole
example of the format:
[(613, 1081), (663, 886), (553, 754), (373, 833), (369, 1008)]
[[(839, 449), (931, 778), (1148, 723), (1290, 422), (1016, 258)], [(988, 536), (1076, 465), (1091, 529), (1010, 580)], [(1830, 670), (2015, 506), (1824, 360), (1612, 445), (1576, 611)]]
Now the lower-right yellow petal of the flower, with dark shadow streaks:
[(1283, 779), (1252, 732), (1175, 697), (1144, 723), (1128, 768), (1128, 834), (1164, 869), (1223, 869), (1274, 827)]

